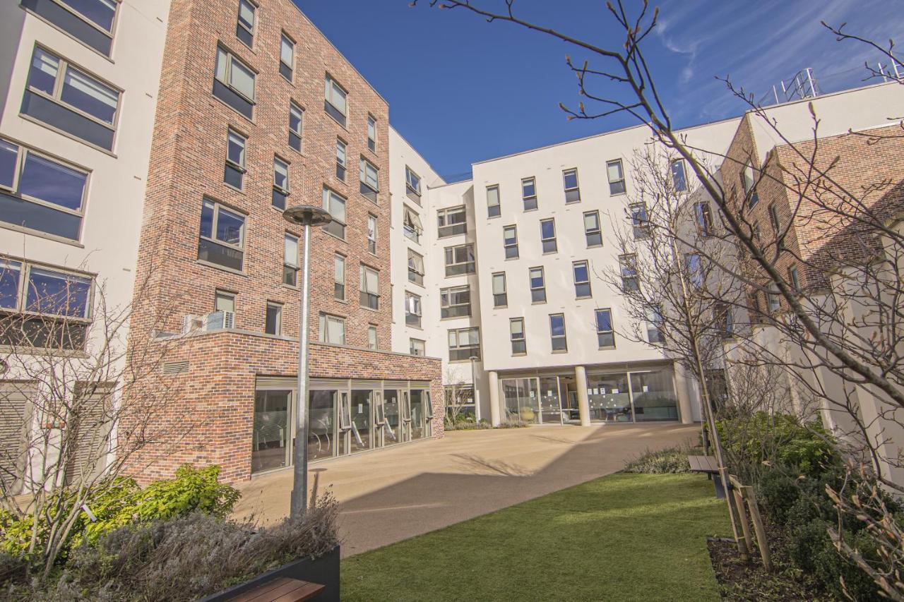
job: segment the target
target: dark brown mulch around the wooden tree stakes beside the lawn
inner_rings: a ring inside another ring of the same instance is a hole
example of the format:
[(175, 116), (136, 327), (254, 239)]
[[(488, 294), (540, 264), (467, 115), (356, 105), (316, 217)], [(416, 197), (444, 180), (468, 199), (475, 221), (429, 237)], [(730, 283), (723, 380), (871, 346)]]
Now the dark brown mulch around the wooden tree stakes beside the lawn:
[(731, 541), (709, 541), (712, 568), (716, 571), (719, 593), (732, 602), (762, 602), (788, 600), (797, 602), (829, 602), (835, 598), (827, 594), (812, 578), (803, 575), (787, 557), (787, 536), (776, 526), (766, 524), (766, 534), (772, 559), (772, 572), (763, 569), (759, 551), (747, 562), (740, 560), (738, 547)]

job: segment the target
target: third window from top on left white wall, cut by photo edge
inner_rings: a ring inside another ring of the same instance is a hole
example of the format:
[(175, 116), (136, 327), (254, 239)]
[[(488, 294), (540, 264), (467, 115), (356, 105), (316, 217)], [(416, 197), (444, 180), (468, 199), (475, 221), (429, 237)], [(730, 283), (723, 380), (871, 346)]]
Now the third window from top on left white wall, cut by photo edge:
[(79, 240), (88, 173), (0, 138), (0, 221)]

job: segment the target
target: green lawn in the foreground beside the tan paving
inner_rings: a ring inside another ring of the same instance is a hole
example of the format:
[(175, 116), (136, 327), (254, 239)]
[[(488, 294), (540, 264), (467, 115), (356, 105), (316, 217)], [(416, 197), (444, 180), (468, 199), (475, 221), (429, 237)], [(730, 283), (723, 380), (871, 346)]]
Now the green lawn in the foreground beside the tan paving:
[(343, 560), (343, 600), (719, 600), (702, 475), (608, 475)]

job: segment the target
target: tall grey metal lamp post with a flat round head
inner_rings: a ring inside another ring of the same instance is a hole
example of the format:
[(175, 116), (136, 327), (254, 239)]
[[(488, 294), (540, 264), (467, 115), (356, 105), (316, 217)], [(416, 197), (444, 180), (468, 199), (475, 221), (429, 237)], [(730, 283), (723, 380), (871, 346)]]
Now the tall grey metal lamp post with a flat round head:
[(296, 205), (283, 212), (283, 219), (304, 229), (304, 247), (301, 253), (301, 300), (298, 315), (298, 411), (293, 450), (292, 501), (289, 515), (299, 517), (307, 508), (307, 339), (308, 297), (310, 296), (311, 226), (333, 221), (333, 216), (314, 205)]

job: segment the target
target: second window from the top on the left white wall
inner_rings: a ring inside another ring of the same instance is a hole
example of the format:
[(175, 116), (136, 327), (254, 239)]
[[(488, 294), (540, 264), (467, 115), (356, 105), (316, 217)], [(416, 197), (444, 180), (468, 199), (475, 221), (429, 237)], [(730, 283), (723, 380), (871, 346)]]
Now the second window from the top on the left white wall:
[(118, 89), (34, 47), (22, 112), (90, 145), (113, 150)]

